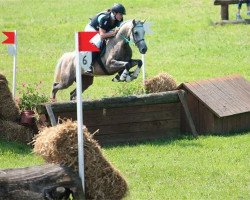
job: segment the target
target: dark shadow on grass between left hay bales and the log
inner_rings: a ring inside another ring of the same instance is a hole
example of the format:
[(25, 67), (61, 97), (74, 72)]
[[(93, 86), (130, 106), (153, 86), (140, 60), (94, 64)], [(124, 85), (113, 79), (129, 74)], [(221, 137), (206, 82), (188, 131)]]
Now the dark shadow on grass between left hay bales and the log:
[(4, 152), (13, 152), (15, 154), (29, 154), (32, 152), (31, 146), (21, 144), (18, 142), (10, 142), (6, 140), (0, 140), (0, 154)]

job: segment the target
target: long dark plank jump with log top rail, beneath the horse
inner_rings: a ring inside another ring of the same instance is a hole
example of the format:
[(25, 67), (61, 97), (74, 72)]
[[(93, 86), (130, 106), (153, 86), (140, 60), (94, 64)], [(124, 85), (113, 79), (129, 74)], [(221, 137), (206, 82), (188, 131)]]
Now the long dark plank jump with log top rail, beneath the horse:
[[(195, 135), (182, 90), (83, 101), (83, 123), (92, 133), (99, 130), (94, 138), (102, 145), (162, 139), (181, 134), (182, 105)], [(76, 120), (76, 106), (76, 102), (43, 104), (38, 113), (55, 125), (59, 118)]]

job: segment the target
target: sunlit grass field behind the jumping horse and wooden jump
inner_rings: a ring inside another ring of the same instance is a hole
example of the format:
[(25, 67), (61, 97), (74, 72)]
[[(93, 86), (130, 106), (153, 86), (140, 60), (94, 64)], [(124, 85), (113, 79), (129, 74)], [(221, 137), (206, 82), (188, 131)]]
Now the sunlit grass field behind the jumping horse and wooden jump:
[[(153, 35), (147, 35), (147, 77), (171, 74), (178, 83), (240, 73), (250, 80), (250, 26), (213, 26), (220, 7), (207, 0), (135, 0), (126, 5), (127, 19), (147, 19)], [(0, 30), (18, 31), (17, 83), (44, 81), (41, 92), (50, 95), (54, 66), (59, 57), (74, 50), (74, 32), (88, 18), (110, 7), (113, 1), (0, 0)], [(230, 6), (231, 18), (236, 6)], [(243, 7), (243, 11), (244, 11)], [(245, 16), (245, 12), (242, 12)], [(4, 40), (0, 35), (0, 40)], [(0, 45), (0, 71), (12, 82), (12, 58)], [(134, 57), (140, 58), (138, 51)], [(112, 83), (112, 76), (96, 78), (84, 98), (119, 95), (117, 88), (141, 83)], [(69, 91), (59, 92), (68, 100)]]

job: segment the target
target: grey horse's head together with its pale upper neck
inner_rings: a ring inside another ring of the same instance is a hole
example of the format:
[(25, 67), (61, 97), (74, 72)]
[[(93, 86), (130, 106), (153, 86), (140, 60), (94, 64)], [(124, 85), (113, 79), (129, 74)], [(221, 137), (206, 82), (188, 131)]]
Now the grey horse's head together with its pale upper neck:
[(133, 41), (140, 53), (147, 52), (147, 45), (144, 40), (145, 30), (143, 27), (144, 22), (141, 21), (126, 21), (121, 25), (118, 38), (123, 38), (126, 42)]

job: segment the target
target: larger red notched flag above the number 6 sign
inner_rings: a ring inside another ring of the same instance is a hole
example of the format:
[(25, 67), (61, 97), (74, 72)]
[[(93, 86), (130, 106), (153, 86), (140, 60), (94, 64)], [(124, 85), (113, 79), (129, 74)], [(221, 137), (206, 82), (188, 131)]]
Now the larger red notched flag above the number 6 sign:
[(100, 51), (94, 44), (90, 43), (90, 40), (97, 34), (98, 32), (78, 32), (78, 46), (79, 51)]

